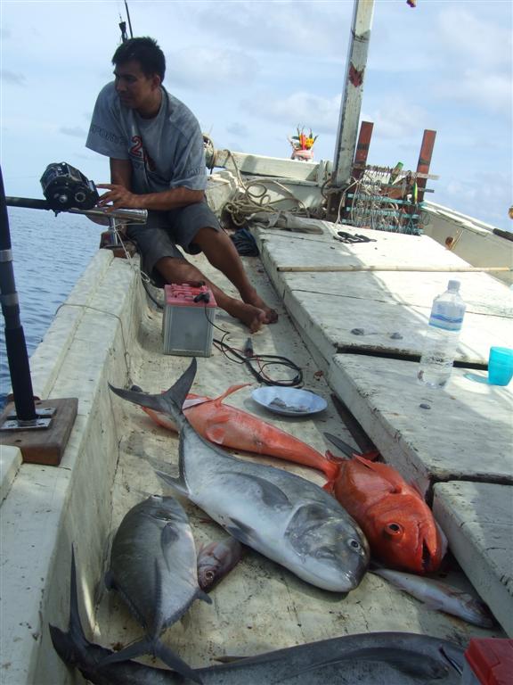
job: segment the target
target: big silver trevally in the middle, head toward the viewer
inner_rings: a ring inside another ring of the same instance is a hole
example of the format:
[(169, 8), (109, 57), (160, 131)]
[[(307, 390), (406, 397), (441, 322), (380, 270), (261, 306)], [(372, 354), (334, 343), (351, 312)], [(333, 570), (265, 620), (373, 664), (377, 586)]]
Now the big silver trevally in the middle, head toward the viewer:
[(234, 538), (306, 582), (334, 592), (353, 590), (369, 564), (362, 530), (318, 485), (288, 471), (231, 457), (204, 440), (183, 415), (196, 359), (167, 392), (111, 390), (169, 414), (180, 431), (180, 475), (159, 474)]

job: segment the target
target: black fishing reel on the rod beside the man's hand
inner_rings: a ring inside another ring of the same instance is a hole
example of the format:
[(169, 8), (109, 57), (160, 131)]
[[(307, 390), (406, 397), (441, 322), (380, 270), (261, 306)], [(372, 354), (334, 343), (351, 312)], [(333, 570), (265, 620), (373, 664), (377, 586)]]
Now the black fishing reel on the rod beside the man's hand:
[(100, 199), (94, 181), (65, 161), (46, 167), (41, 186), (46, 202), (54, 211), (90, 210)]

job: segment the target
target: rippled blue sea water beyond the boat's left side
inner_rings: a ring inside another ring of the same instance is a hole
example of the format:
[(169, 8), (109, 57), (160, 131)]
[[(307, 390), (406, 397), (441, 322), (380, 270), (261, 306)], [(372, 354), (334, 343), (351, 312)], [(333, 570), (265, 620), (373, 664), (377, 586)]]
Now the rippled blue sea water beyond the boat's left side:
[[(55, 216), (45, 210), (9, 207), (8, 216), (20, 318), (30, 356), (98, 250), (104, 227), (84, 216), (66, 213)], [(11, 392), (4, 327), (4, 317), (1, 317), (0, 408)]]

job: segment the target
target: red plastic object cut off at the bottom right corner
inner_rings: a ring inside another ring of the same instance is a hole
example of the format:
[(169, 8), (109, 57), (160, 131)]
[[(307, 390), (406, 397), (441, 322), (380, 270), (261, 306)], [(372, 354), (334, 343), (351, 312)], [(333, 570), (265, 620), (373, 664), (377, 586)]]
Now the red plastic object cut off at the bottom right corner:
[(470, 640), (465, 652), (468, 664), (482, 685), (509, 685), (513, 673), (513, 640)]

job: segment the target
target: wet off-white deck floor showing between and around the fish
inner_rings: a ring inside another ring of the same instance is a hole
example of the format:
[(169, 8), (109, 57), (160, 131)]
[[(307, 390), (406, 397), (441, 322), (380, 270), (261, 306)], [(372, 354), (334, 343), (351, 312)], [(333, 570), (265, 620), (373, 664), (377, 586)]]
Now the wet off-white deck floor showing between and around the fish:
[[(354, 444), (330, 400), (332, 389), (327, 383), (327, 376), (320, 373), (320, 359), (314, 359), (306, 349), (280, 297), (263, 273), (260, 261), (245, 258), (244, 262), (258, 291), (280, 313), (277, 324), (265, 326), (262, 332), (253, 336), (255, 351), (284, 355), (296, 362), (304, 370), (305, 388), (322, 395), (328, 401), (328, 409), (315, 417), (304, 418), (277, 417), (266, 412), (250, 398), (251, 390), (256, 387), (253, 377), (244, 367), (229, 361), (216, 349), (212, 357), (198, 359), (198, 374), (192, 392), (216, 396), (229, 384), (253, 383), (251, 388), (230, 396), (227, 403), (294, 433), (321, 452), (330, 447), (322, 437), (324, 431), (335, 433)], [(199, 265), (208, 272), (204, 263), (199, 262)], [(219, 285), (231, 289), (218, 275), (215, 279)], [(222, 312), (216, 318), (216, 324), (229, 332), (225, 342), (242, 348), (248, 337), (246, 329)], [(222, 335), (216, 330), (216, 338)], [(130, 351), (128, 361), (131, 382), (146, 392), (167, 389), (190, 362), (188, 358), (164, 356), (161, 351), (161, 315), (148, 308), (142, 319), (139, 340)], [(155, 459), (177, 466), (178, 448), (175, 433), (154, 425), (141, 409), (123, 400), (114, 401), (118, 433), (122, 434), (122, 439), (118, 446), (118, 470), (113, 491), (112, 532), (127, 510), (147, 495), (170, 494), (154, 474), (152, 466)], [(240, 458), (251, 459), (247, 454), (241, 454)], [(255, 460), (289, 469), (315, 483), (324, 482), (322, 475), (312, 469), (273, 459)], [(209, 522), (208, 516), (199, 508), (183, 503), (197, 546), (224, 537), (224, 531)], [(453, 562), (447, 571), (448, 582), (463, 589), (471, 588), (457, 564)], [(102, 582), (98, 584), (97, 596), (96, 641), (104, 646), (119, 647), (142, 636), (140, 626), (125, 605), (115, 593), (104, 590)], [(212, 598), (212, 606), (195, 602), (183, 620), (163, 636), (165, 642), (192, 666), (215, 664), (218, 656), (256, 655), (275, 648), (362, 631), (427, 633), (461, 645), (466, 645), (471, 637), (503, 635), (499, 627), (495, 631), (485, 631), (431, 611), (372, 574), (367, 574), (361, 585), (347, 595), (318, 590), (251, 550), (213, 590)]]

